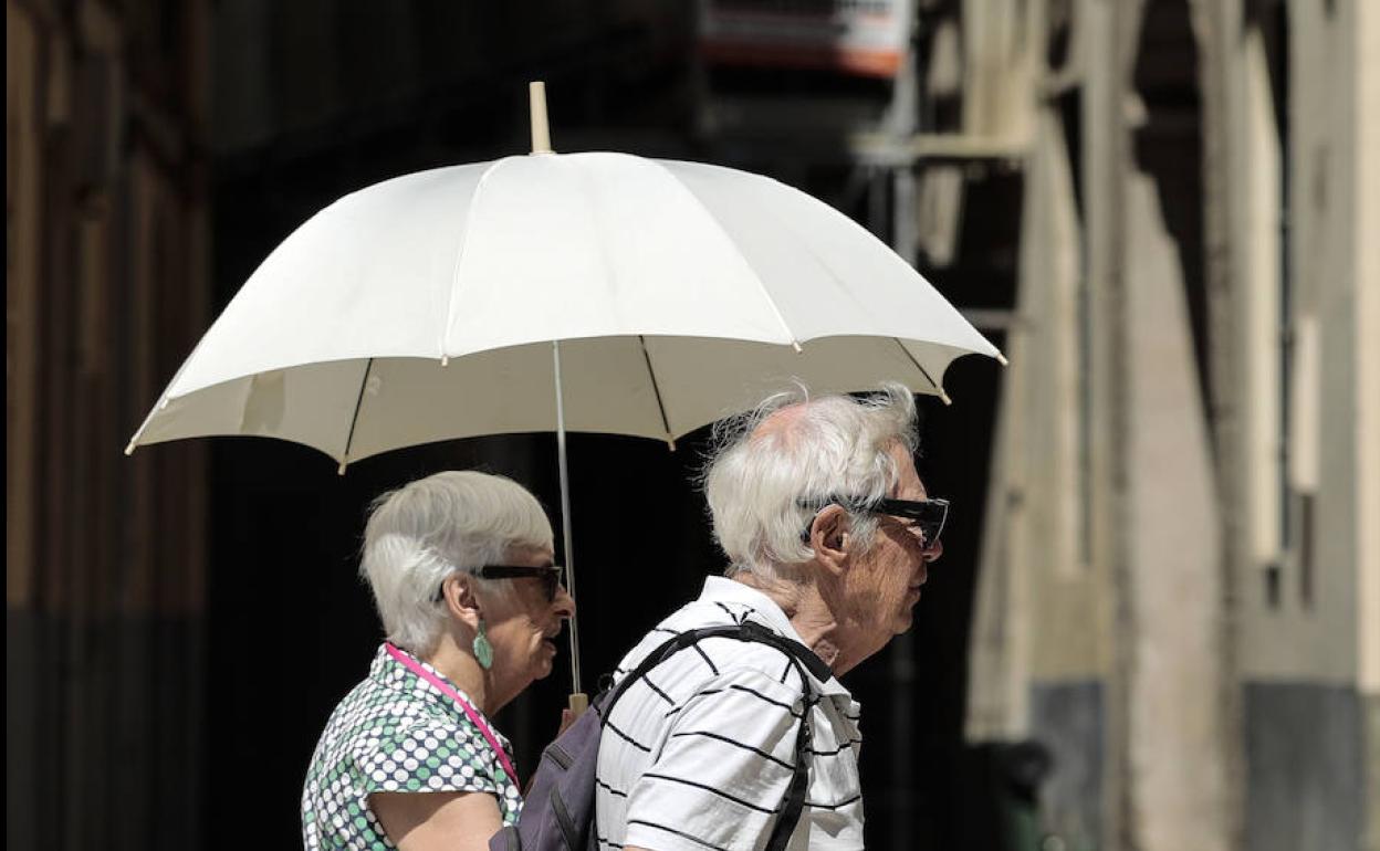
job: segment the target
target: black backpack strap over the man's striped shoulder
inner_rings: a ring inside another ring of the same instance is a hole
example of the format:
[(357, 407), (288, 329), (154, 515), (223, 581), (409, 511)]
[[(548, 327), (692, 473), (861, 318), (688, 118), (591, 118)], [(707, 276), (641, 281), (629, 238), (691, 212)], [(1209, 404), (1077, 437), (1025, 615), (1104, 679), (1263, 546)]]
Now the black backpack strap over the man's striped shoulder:
[(787, 843), (791, 841), (791, 833), (795, 832), (795, 826), (800, 821), (800, 811), (805, 808), (805, 793), (810, 785), (810, 708), (814, 702), (811, 701), (810, 694), (810, 677), (805, 676), (805, 672), (809, 670), (821, 681), (834, 676), (834, 672), (831, 672), (829, 666), (824, 663), (824, 659), (817, 657), (809, 647), (774, 633), (766, 626), (752, 621), (723, 626), (701, 626), (700, 629), (678, 633), (643, 657), (642, 662), (639, 662), (636, 668), (628, 672), (628, 676), (613, 687), (609, 699), (603, 702), (603, 714), (600, 716), (600, 721), (609, 717), (609, 712), (613, 710), (613, 705), (620, 697), (622, 697), (622, 692), (628, 688), (628, 685), (647, 676), (653, 668), (665, 662), (686, 647), (698, 644), (705, 639), (719, 637), (770, 644), (771, 647), (776, 647), (781, 652), (787, 654), (791, 663), (795, 666), (796, 673), (800, 674), (800, 683), (805, 688), (805, 712), (800, 713), (800, 727), (795, 734), (795, 768), (791, 774), (791, 785), (787, 786), (785, 790), (785, 799), (781, 801), (781, 810), (777, 817), (776, 826), (771, 829), (771, 836), (767, 839), (766, 844), (766, 851), (784, 851)]

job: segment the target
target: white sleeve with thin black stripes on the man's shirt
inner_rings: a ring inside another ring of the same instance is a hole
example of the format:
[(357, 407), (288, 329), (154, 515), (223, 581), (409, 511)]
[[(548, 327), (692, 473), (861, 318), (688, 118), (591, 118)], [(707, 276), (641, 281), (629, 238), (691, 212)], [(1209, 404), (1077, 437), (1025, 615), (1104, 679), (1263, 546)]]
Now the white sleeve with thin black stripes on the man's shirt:
[(796, 677), (738, 669), (708, 680), (672, 716), (628, 793), (628, 845), (657, 851), (760, 847), (795, 767), (805, 713)]

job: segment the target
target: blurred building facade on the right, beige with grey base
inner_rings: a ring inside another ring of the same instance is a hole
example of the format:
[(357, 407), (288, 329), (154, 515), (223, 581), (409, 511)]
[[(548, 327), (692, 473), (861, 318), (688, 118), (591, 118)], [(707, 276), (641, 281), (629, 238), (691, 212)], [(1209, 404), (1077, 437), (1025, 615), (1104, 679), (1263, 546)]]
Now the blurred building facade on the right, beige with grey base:
[(1035, 69), (965, 76), (1027, 146), (967, 732), (1063, 847), (1377, 848), (1380, 8), (962, 11)]

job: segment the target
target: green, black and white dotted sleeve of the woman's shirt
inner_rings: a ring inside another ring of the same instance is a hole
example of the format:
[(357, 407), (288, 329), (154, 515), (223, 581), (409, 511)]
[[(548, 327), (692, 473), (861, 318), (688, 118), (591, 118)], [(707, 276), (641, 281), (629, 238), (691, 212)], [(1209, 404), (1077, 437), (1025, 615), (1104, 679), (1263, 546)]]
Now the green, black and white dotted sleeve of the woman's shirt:
[(494, 756), (472, 724), (408, 724), (360, 742), (353, 756), (364, 794), (374, 792), (489, 792), (500, 794)]

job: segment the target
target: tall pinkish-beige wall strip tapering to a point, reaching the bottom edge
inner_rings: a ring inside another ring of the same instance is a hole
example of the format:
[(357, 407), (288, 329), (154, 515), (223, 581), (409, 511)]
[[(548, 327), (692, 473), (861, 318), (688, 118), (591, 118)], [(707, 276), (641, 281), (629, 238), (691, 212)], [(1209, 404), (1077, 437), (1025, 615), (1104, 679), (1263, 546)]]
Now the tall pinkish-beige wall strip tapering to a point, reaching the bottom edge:
[(1228, 847), (1220, 516), (1184, 281), (1155, 186), (1126, 186), (1129, 800), (1147, 851)]

